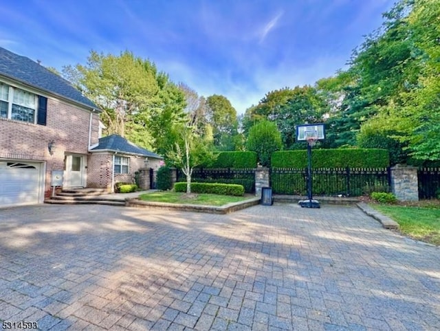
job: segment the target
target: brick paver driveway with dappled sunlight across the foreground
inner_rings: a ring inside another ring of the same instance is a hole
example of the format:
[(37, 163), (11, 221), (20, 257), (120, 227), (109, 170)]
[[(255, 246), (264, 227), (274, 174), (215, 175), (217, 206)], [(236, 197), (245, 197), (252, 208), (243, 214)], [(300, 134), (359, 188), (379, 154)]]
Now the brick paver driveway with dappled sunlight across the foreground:
[(41, 330), (439, 330), (439, 253), (356, 207), (3, 209), (0, 319)]

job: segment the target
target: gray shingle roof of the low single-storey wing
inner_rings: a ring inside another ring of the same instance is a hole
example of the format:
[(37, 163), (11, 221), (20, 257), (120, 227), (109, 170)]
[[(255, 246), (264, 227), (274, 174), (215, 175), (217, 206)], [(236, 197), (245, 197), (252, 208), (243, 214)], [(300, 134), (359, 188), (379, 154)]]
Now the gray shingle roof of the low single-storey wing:
[(139, 147), (120, 135), (109, 135), (107, 137), (100, 138), (98, 146), (92, 148), (91, 151), (98, 152), (100, 150), (109, 150), (113, 152), (120, 152), (122, 154), (141, 155), (143, 157), (163, 159), (163, 157), (160, 155)]

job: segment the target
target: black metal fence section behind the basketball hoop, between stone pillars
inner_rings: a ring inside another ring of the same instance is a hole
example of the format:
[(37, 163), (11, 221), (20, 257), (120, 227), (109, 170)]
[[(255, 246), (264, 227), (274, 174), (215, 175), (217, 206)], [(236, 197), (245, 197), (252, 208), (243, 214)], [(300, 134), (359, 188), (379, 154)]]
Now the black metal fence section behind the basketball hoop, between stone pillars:
[[(307, 195), (307, 169), (272, 168), (274, 194)], [(313, 169), (312, 191), (320, 196), (361, 196), (371, 192), (390, 192), (390, 168)]]

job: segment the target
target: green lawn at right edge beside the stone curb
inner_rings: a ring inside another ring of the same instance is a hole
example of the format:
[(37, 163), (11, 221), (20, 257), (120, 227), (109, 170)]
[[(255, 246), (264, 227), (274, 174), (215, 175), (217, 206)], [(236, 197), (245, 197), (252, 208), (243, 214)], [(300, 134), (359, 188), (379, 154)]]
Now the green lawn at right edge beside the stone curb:
[(440, 245), (440, 209), (439, 207), (409, 207), (399, 205), (371, 204), (399, 223), (401, 233), (406, 236)]

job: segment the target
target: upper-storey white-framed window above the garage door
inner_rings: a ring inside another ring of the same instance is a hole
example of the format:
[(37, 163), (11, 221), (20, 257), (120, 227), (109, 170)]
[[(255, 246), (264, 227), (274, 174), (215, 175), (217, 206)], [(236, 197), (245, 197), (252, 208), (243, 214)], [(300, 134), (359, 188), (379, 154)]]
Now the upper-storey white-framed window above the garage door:
[(37, 100), (34, 93), (0, 82), (0, 117), (35, 123)]

